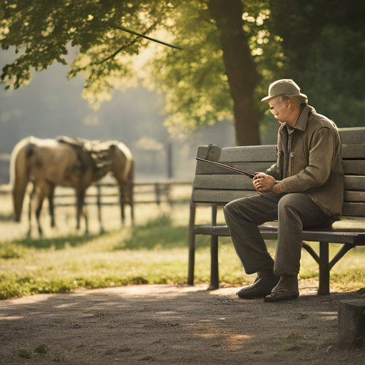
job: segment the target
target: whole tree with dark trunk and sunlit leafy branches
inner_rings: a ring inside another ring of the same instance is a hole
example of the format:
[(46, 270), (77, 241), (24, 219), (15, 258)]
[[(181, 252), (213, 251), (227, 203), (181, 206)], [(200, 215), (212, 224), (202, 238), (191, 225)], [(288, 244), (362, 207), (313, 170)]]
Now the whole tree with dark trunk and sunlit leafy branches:
[(31, 68), (66, 63), (71, 44), (79, 53), (68, 76), (86, 73), (89, 98), (102, 100), (115, 80), (132, 76), (133, 56), (148, 45), (120, 27), (145, 35), (165, 29), (183, 51), (155, 53), (150, 82), (166, 95), (170, 126), (192, 130), (235, 115), (237, 144), (257, 144), (257, 69), (269, 59), (263, 49), (277, 43), (265, 30), (268, 17), (267, 1), (253, 0), (4, 0), (0, 44), (14, 46), (18, 56), (1, 80), (6, 87), (26, 85)]

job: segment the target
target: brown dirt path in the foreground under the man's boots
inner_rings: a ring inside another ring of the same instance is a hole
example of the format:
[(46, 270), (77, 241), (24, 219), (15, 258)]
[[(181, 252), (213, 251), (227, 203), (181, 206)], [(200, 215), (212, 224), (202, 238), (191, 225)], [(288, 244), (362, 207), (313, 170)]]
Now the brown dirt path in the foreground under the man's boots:
[[(364, 295), (319, 297), (301, 282), (298, 299), (265, 303), (237, 299), (237, 288), (205, 289), (140, 285), (4, 300), (0, 364), (365, 363), (365, 349), (336, 347), (339, 301)], [(39, 345), (46, 354), (34, 353)]]

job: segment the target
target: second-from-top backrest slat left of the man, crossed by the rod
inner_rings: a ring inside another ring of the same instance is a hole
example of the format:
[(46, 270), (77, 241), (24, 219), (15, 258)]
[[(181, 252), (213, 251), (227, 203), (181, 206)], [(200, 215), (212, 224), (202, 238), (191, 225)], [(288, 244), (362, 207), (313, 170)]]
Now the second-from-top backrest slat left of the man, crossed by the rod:
[[(272, 163), (230, 163), (229, 165), (234, 168), (239, 168), (240, 170), (247, 171), (248, 173), (264, 173), (268, 168), (270, 168), (275, 161)], [(208, 174), (221, 174), (221, 175), (240, 175), (233, 170), (227, 168), (222, 168), (221, 166), (213, 165), (212, 163), (205, 163), (204, 161), (197, 160), (197, 168), (195, 170), (195, 175), (208, 175)], [(364, 172), (365, 174), (365, 172)]]

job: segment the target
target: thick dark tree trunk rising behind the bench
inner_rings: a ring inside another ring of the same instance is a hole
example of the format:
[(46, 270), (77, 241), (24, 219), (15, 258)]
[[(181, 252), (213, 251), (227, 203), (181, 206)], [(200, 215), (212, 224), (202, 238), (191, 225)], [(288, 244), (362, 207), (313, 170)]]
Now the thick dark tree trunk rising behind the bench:
[(259, 113), (254, 93), (261, 76), (242, 29), (242, 1), (210, 0), (208, 7), (217, 26), (234, 103), (236, 144), (259, 145)]

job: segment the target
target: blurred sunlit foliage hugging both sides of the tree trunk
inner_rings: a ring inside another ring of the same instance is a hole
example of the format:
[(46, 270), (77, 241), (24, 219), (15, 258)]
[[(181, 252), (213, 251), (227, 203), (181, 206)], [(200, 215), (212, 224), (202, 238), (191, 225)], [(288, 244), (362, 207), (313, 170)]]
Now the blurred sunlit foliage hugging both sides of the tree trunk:
[[(283, 63), (281, 40), (267, 30), (269, 1), (245, 1), (242, 15), (252, 57), (262, 75), (257, 105), (267, 83), (279, 76)], [(222, 47), (208, 1), (180, 1), (168, 27), (183, 52), (164, 49), (150, 63), (150, 83), (165, 95), (165, 124), (170, 132), (187, 135), (216, 120), (233, 117)], [(242, 70), (244, 72), (244, 70)]]

